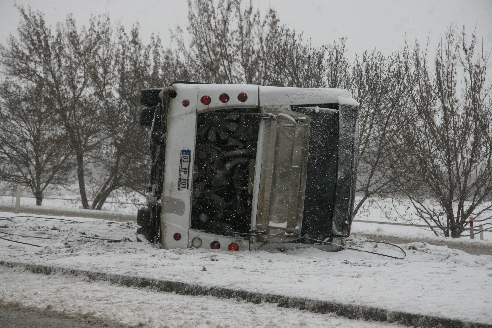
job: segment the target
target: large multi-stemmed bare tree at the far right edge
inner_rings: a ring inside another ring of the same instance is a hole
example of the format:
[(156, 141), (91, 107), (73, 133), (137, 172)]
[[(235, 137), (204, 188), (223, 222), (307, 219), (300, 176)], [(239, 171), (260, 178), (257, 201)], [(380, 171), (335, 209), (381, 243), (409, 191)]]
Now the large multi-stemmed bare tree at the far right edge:
[(436, 235), (459, 237), (470, 220), (492, 218), (488, 59), (475, 33), (468, 41), (455, 28), (440, 41), (433, 70), (418, 44), (405, 53), (411, 105), (397, 140), (400, 193)]

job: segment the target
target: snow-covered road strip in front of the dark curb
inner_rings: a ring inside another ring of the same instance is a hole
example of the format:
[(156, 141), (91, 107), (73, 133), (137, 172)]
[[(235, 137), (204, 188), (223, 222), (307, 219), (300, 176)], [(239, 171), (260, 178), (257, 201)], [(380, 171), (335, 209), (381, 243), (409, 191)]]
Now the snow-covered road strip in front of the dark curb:
[(0, 306), (45, 308), (101, 327), (401, 327), (350, 320), (275, 304), (185, 296), (121, 287), (84, 277), (43, 275), (0, 267)]

